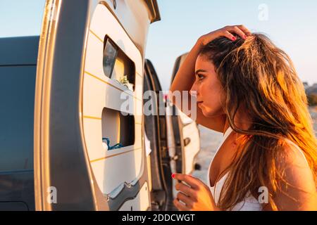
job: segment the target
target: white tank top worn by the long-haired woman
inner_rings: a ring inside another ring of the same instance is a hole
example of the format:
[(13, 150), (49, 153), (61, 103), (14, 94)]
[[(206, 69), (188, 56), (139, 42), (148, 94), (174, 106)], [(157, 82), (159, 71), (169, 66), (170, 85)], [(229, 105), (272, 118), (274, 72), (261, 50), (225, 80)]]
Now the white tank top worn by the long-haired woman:
[[(215, 156), (218, 153), (219, 148), (223, 145), (223, 142), (225, 141), (225, 139), (228, 138), (228, 136), (229, 136), (229, 134), (231, 134), (231, 132), (232, 132), (232, 128), (228, 127), (228, 129), (225, 131), (225, 134), (223, 134), (223, 139), (220, 142), (218, 149), (216, 150)], [(302, 156), (306, 160), (306, 157), (305, 157), (303, 151), (301, 150), (301, 148), (299, 148), (299, 146), (297, 146), (294, 142), (290, 141), (290, 139), (285, 139), (285, 141), (287, 141), (288, 143), (291, 143), (293, 146), (295, 146), (297, 148), (297, 150), (299, 150), (299, 152), (302, 153)], [(213, 158), (215, 158), (215, 157), (213, 157)], [(211, 160), (211, 163), (212, 162), (213, 162), (213, 160)], [(209, 168), (208, 168), (208, 172), (207, 172), (207, 178), (206, 178), (207, 183), (206, 184), (207, 184), (207, 186), (209, 186), (211, 194), (213, 195), (213, 199), (215, 200), (215, 203), (217, 205), (218, 200), (219, 200), (219, 196), (220, 196), (220, 191), (223, 188), (223, 184), (225, 183), (225, 179), (228, 176), (228, 172), (218, 182), (216, 182), (213, 187), (211, 187), (210, 178), (209, 178), (211, 163), (209, 164)], [(306, 160), (306, 165), (308, 165), (307, 160)], [(216, 186), (216, 188), (215, 188), (215, 186)], [(260, 210), (262, 210), (262, 205), (259, 203), (259, 201), (256, 198), (254, 198), (253, 195), (251, 195), (250, 192), (248, 192), (246, 197), (244, 198), (244, 200), (240, 203), (237, 203), (237, 205), (235, 205), (235, 207), (233, 207), (232, 210), (233, 211), (260, 211)]]

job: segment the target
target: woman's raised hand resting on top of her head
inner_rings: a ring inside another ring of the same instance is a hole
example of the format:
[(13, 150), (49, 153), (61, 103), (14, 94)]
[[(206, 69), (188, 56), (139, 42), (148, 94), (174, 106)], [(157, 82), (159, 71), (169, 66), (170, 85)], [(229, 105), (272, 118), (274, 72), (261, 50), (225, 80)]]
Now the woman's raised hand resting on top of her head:
[(244, 27), (244, 25), (233, 25), (233, 26), (225, 26), (208, 34), (204, 34), (199, 37), (198, 41), (200, 44), (205, 45), (208, 44), (213, 39), (218, 37), (228, 37), (228, 39), (235, 41), (236, 37), (233, 34), (238, 34), (242, 39), (247, 39), (248, 36), (251, 36), (251, 32)]

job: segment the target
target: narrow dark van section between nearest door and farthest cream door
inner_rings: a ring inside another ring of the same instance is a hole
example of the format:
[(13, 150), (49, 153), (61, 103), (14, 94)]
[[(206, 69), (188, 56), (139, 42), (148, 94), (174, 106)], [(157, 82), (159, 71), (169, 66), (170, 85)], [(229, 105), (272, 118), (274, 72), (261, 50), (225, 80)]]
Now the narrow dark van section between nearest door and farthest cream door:
[(151, 176), (151, 210), (176, 210), (173, 205), (173, 181), (170, 176), (170, 155), (168, 152), (168, 130), (166, 127), (166, 102), (159, 77), (150, 60), (144, 65), (144, 108), (151, 110), (144, 114), (144, 130), (149, 139), (149, 174)]

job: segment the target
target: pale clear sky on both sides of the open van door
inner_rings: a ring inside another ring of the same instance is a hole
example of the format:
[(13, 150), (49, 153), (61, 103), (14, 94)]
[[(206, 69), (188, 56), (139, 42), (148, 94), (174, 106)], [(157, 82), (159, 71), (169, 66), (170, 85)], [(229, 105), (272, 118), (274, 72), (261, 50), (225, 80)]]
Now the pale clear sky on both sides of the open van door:
[[(225, 25), (262, 32), (293, 60), (299, 77), (317, 83), (316, 0), (157, 0), (161, 21), (149, 27), (145, 57), (163, 86), (170, 85), (175, 60), (197, 39)], [(38, 35), (44, 0), (0, 0), (0, 37)], [(13, 13), (15, 12), (15, 13)]]

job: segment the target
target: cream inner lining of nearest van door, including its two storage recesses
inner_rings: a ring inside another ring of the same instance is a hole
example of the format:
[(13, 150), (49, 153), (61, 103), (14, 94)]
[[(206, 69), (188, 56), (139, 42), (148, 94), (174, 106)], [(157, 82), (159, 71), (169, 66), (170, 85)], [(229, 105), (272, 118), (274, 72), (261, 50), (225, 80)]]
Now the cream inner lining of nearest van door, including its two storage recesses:
[(97, 186), (111, 210), (147, 210), (142, 55), (103, 4), (94, 11), (86, 51), (83, 133)]

